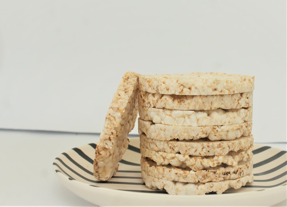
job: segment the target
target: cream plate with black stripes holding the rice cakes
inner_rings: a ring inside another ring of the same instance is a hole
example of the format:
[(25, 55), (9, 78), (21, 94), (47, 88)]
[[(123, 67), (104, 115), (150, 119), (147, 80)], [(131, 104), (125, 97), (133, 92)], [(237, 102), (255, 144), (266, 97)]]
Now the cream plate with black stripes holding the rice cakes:
[[(99, 206), (204, 205), (215, 203), (236, 206), (271, 206), (286, 199), (286, 151), (254, 145), (254, 182), (223, 194), (200, 196), (169, 195), (146, 187), (141, 179), (139, 138), (131, 138), (120, 162), (119, 171), (110, 181), (93, 177), (96, 144), (87, 144), (63, 152), (55, 158), (53, 169), (73, 193)], [(235, 202), (235, 203), (234, 203)]]

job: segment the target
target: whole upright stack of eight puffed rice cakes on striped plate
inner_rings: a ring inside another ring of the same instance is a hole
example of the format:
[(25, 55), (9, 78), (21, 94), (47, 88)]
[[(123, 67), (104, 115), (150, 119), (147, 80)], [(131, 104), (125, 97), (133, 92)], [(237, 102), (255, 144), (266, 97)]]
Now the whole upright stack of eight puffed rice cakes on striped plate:
[(173, 195), (221, 194), (253, 181), (254, 76), (139, 76), (141, 175)]

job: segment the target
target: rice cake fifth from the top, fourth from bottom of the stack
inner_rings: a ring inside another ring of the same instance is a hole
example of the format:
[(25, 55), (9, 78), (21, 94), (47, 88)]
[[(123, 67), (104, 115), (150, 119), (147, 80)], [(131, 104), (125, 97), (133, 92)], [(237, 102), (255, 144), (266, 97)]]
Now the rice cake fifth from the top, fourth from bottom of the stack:
[(200, 140), (156, 140), (148, 138), (145, 134), (139, 135), (140, 147), (154, 151), (181, 153), (194, 156), (226, 155), (230, 151), (248, 150), (253, 145), (252, 134), (234, 140), (210, 141)]

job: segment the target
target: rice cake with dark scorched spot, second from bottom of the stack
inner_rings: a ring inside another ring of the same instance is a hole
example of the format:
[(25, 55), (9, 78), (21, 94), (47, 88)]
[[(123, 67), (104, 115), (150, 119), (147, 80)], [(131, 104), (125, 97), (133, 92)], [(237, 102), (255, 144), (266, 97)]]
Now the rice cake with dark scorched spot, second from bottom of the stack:
[(185, 183), (207, 183), (234, 180), (252, 172), (253, 160), (241, 161), (237, 167), (220, 165), (204, 170), (193, 171), (171, 165), (157, 165), (149, 158), (141, 157), (141, 170), (153, 177)]

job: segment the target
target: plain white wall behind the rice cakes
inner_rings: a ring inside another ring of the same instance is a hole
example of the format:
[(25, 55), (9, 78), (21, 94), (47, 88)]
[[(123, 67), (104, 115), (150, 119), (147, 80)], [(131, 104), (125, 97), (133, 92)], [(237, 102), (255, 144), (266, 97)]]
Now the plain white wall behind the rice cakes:
[(100, 132), (125, 71), (254, 75), (255, 141), (286, 142), (286, 1), (0, 0), (0, 128)]

